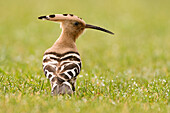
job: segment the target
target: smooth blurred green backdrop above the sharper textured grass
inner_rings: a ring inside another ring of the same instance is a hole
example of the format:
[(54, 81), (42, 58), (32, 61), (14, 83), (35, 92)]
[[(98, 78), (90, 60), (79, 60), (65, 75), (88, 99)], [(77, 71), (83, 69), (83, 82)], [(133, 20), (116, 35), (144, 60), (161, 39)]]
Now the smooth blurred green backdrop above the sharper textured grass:
[[(116, 70), (159, 67), (160, 63), (165, 68), (170, 65), (168, 0), (1, 0), (0, 4), (1, 57), (9, 57), (11, 61), (18, 57), (20, 60), (33, 57), (39, 61), (59, 37), (59, 25), (40, 21), (38, 16), (73, 13), (89, 24), (115, 33), (111, 36), (87, 30), (79, 38), (77, 46), (87, 62), (85, 69), (88, 70), (89, 65)], [(2, 60), (3, 64), (7, 62), (7, 59)]]

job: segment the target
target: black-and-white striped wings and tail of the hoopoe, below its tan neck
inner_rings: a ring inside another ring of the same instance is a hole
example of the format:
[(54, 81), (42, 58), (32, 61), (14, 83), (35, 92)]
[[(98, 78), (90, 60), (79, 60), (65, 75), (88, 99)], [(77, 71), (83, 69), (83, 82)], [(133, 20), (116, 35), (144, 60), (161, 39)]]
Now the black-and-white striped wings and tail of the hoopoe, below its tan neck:
[(81, 70), (80, 55), (77, 52), (45, 53), (43, 70), (51, 82), (52, 95), (72, 94), (75, 91), (76, 77)]

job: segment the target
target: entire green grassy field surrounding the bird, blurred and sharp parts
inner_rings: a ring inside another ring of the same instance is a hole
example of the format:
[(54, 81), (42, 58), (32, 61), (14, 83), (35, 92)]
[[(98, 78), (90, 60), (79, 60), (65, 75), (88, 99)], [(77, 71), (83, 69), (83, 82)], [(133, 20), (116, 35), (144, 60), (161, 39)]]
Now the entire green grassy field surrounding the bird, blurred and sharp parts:
[[(0, 112), (170, 112), (168, 0), (1, 0)], [(74, 96), (50, 96), (42, 55), (60, 35), (40, 15), (73, 13), (115, 36), (87, 30)]]

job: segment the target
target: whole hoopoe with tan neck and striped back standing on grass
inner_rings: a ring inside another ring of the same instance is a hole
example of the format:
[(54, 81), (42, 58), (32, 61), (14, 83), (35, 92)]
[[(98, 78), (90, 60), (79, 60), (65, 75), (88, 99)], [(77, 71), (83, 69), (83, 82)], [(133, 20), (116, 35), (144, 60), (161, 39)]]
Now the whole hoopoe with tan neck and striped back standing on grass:
[(51, 94), (73, 94), (76, 78), (81, 70), (81, 59), (76, 47), (76, 39), (86, 28), (101, 30), (114, 34), (109, 30), (86, 24), (82, 18), (73, 14), (54, 14), (40, 16), (38, 19), (60, 22), (62, 33), (51, 48), (43, 56), (43, 71), (51, 83)]

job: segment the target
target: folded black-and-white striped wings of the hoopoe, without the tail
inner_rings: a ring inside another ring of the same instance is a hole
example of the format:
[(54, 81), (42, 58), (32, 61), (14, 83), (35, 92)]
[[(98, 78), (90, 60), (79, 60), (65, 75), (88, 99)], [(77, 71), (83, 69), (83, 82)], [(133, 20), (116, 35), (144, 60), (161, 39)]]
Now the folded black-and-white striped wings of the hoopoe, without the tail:
[(45, 53), (43, 57), (43, 70), (45, 76), (52, 83), (61, 84), (75, 79), (81, 70), (81, 59), (77, 52), (57, 54)]

